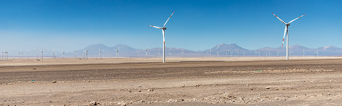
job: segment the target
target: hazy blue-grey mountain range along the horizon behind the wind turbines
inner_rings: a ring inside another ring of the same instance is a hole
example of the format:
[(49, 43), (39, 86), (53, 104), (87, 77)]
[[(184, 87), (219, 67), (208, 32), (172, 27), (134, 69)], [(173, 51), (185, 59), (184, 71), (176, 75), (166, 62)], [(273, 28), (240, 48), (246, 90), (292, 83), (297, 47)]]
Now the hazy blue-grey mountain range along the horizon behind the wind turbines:
[[(119, 49), (120, 48), (120, 49)], [(148, 53), (149, 57), (162, 57), (162, 53), (163, 53), (163, 49), (162, 48), (151, 48), (148, 49), (148, 52), (145, 51), (144, 49), (134, 49), (129, 47), (128, 45), (116, 45), (113, 47), (107, 47), (104, 44), (93, 44), (93, 45), (89, 45), (87, 47), (84, 48), (84, 50), (88, 50), (88, 57), (99, 57), (99, 53), (100, 50), (103, 50), (102, 52), (102, 57), (106, 58), (108, 57), (108, 53), (109, 53), (109, 57), (116, 57), (116, 50), (119, 49), (119, 57), (138, 57), (138, 52), (139, 53), (139, 57), (146, 57), (146, 53)], [(76, 50), (76, 54), (77, 57), (84, 57), (83, 53), (84, 50)], [(227, 52), (227, 51), (228, 52)], [(203, 50), (203, 51), (198, 51), (198, 53), (196, 51), (191, 51), (191, 50), (187, 50), (187, 49), (183, 49), (183, 48), (166, 48), (165, 49), (165, 55), (166, 57), (182, 57), (181, 52), (183, 51), (184, 57), (216, 57), (217, 56), (217, 52), (219, 52), (219, 56), (220, 57), (225, 57), (225, 56), (238, 56), (238, 51), (240, 50), (240, 56), (266, 56), (266, 52), (267, 52), (267, 56), (271, 55), (271, 56), (278, 56), (277, 55), (277, 51), (279, 52), (279, 56), (285, 56), (286, 55), (286, 47), (278, 47), (278, 48), (269, 48), (269, 47), (265, 47), (265, 48), (261, 48), (261, 49), (256, 49), (256, 50), (248, 50), (248, 49), (244, 49), (236, 44), (218, 44), (216, 46), (214, 46), (211, 49), (207, 49), (207, 50)], [(334, 47), (334, 46), (325, 46), (325, 47), (320, 47), (317, 49), (311, 49), (311, 48), (307, 48), (304, 46), (300, 46), (300, 45), (293, 45), (289, 47), (289, 50), (292, 52), (291, 55), (292, 56), (302, 56), (303, 55), (303, 51), (305, 52), (305, 56), (314, 56), (316, 55), (316, 51), (318, 51), (319, 56), (342, 56), (342, 48), (338, 48), (338, 47)], [(211, 53), (210, 53), (211, 51)], [(55, 51), (57, 54), (57, 57), (62, 57), (62, 51)], [(160, 55), (159, 55), (160, 52)], [(19, 53), (19, 52), (16, 52)], [(36, 57), (35, 54), (37, 53), (40, 57), (41, 52), (40, 51), (28, 51), (28, 53), (30, 54), (29, 57)], [(51, 57), (51, 53), (52, 51), (44, 51), (43, 52), (44, 56), (47, 57)], [(170, 54), (171, 53), (171, 54)], [(243, 54), (244, 53), (244, 54)], [(260, 53), (260, 54), (259, 54)], [(270, 54), (271, 53), (271, 54)], [(227, 54), (227, 55), (226, 55)], [(23, 57), (26, 57), (26, 53), (23, 53)], [(74, 57), (75, 53), (64, 53), (65, 57)], [(12, 57), (19, 57), (18, 55), (13, 55)]]

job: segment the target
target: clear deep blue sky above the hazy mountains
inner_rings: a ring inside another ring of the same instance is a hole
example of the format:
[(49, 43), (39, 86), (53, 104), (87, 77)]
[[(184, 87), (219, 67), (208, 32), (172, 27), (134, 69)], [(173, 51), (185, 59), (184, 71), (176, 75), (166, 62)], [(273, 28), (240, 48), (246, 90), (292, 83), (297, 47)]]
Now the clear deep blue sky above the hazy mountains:
[[(342, 0), (0, 0), (0, 51), (71, 52), (91, 44), (205, 50), (220, 43), (279, 47), (285, 22), (290, 45), (342, 47)], [(286, 39), (285, 39), (286, 40)], [(284, 44), (285, 45), (285, 44)]]

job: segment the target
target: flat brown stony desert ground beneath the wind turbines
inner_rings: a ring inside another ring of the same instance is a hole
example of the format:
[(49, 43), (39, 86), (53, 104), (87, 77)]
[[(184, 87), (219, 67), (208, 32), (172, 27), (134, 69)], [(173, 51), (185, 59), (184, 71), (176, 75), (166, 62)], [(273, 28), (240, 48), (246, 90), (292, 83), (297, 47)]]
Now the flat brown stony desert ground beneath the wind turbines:
[(284, 59), (9, 58), (0, 106), (342, 105), (342, 57)]

